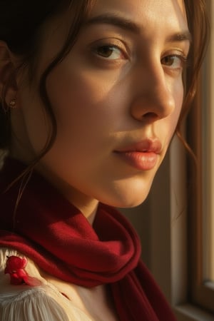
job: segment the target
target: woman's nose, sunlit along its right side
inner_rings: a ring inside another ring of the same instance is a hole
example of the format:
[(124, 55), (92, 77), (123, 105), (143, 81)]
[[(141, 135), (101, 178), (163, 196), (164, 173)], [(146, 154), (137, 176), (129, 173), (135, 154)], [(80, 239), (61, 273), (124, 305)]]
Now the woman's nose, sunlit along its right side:
[(131, 104), (131, 115), (138, 121), (156, 121), (168, 117), (175, 109), (173, 81), (165, 75), (161, 62), (158, 66), (138, 68), (133, 88), (136, 96)]

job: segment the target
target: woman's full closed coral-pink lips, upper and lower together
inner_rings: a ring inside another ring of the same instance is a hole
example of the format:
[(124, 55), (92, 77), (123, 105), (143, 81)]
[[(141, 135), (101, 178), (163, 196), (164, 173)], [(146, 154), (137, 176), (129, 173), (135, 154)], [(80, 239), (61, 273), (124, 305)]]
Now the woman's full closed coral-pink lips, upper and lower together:
[(146, 139), (115, 151), (121, 161), (137, 170), (151, 170), (158, 162), (161, 153), (161, 142), (158, 139)]

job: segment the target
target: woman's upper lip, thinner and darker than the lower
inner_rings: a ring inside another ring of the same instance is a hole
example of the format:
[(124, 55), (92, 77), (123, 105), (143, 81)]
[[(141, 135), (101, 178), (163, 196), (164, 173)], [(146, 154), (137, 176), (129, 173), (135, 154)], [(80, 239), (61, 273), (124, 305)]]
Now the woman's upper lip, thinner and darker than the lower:
[(161, 141), (158, 138), (147, 138), (143, 141), (136, 141), (133, 143), (128, 143), (126, 146), (118, 148), (117, 153), (128, 153), (131, 151), (141, 152), (141, 153), (161, 153)]

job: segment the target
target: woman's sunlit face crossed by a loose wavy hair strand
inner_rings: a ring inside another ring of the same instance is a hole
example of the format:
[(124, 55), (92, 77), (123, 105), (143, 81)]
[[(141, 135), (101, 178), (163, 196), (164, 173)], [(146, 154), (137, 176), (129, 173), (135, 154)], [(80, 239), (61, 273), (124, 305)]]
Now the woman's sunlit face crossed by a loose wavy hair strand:
[[(46, 142), (37, 86), (69, 23), (67, 12), (46, 24), (34, 83), (19, 83), (14, 154), (24, 161)], [(182, 0), (96, 1), (46, 82), (58, 133), (38, 169), (74, 204), (146, 198), (178, 122), (189, 42)]]

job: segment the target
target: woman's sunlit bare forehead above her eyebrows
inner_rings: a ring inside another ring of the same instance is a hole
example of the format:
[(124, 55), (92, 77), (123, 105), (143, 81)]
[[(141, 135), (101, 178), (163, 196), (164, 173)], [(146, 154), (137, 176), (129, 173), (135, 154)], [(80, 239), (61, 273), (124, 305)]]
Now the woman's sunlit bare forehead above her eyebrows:
[(183, 0), (96, 0), (91, 17), (105, 14), (123, 16), (143, 28), (188, 29)]

